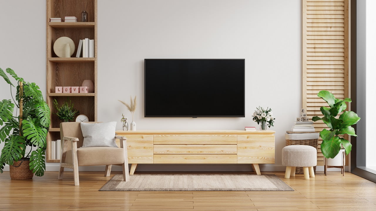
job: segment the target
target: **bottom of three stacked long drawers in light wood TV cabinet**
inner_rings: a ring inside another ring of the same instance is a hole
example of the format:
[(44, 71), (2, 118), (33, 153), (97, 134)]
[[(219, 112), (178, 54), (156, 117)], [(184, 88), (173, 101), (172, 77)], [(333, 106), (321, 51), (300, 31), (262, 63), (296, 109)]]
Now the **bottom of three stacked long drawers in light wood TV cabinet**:
[(154, 155), (154, 163), (237, 163), (237, 155)]

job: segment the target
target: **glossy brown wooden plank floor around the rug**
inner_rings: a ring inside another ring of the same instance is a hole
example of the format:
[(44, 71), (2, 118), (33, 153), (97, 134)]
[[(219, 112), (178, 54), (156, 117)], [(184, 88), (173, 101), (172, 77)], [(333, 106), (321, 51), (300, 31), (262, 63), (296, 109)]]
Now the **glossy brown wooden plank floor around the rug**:
[(376, 211), (376, 184), (349, 172), (318, 172), (310, 180), (262, 172), (276, 174), (295, 191), (98, 191), (115, 173), (121, 172), (109, 177), (104, 172), (80, 172), (80, 186), (74, 186), (72, 172), (65, 172), (63, 180), (57, 179), (58, 172), (46, 172), (26, 181), (11, 180), (4, 172), (0, 210)]

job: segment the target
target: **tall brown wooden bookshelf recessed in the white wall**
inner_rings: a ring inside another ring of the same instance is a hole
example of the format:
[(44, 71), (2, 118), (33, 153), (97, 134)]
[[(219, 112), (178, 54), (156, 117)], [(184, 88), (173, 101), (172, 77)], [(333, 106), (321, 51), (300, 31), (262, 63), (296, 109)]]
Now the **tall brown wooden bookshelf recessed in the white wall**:
[[(51, 140), (60, 139), (60, 121), (55, 115), (53, 100), (62, 104), (68, 99), (80, 114), (88, 116), (89, 121), (97, 121), (97, 0), (47, 0), (47, 104), (51, 109), (51, 125), (47, 134), (46, 162), (58, 163), (51, 158)], [(89, 22), (50, 22), (50, 18), (76, 16), (81, 19), (83, 5), (88, 12)], [(56, 39), (71, 38), (75, 50), (71, 58), (60, 58), (53, 51)], [(80, 39), (94, 39), (94, 58), (76, 58)], [(55, 93), (55, 86), (81, 86), (83, 80), (92, 80), (94, 93)]]

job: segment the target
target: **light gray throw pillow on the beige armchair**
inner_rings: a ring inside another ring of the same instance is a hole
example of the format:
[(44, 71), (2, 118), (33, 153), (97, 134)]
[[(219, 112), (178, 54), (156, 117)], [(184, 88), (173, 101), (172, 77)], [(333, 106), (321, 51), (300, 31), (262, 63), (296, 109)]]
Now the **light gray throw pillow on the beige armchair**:
[(82, 147), (110, 146), (118, 147), (115, 142), (116, 122), (81, 122), (83, 136)]

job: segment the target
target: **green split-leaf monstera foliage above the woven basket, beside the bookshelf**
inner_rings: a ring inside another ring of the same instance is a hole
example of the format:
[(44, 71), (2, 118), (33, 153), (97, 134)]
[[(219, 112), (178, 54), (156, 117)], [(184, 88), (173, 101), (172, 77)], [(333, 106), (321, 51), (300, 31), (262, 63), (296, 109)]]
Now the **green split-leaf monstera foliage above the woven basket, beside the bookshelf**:
[[(14, 86), (0, 68), (0, 75), (11, 86), (11, 95), (12, 89), (17, 89), (13, 92), (15, 96), (12, 95), (13, 102), (11, 99), (0, 101), (0, 142), (5, 142), (0, 156), (0, 172), (3, 172), (4, 164), (11, 166), (15, 161), (27, 159), (30, 161), (30, 170), (36, 176), (43, 176), (50, 108), (35, 83), (24, 81), (11, 68), (7, 68), (6, 72), (18, 85)], [(18, 113), (20, 107), (22, 116)], [(30, 146), (29, 149), (27, 146)]]

